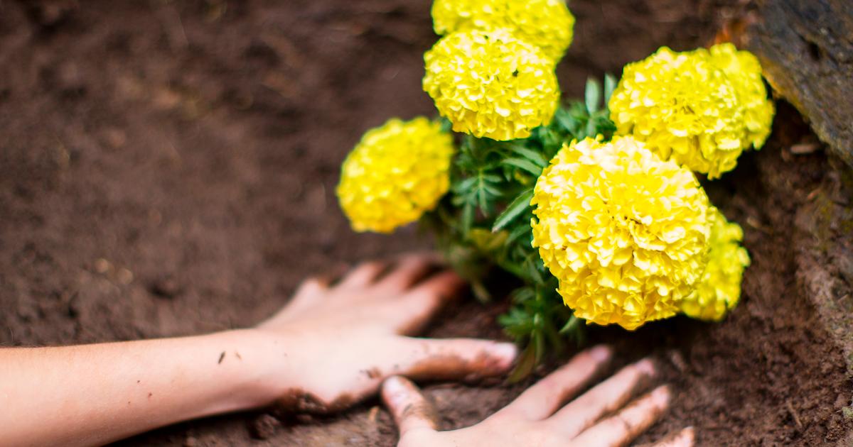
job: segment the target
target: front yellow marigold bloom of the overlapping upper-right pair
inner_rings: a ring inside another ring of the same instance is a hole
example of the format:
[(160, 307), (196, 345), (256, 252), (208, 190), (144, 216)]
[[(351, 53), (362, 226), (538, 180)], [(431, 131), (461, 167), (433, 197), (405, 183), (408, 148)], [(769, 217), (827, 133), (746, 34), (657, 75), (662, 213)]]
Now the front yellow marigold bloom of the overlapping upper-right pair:
[(734, 169), (751, 143), (736, 89), (706, 49), (663, 47), (625, 66), (609, 106), (618, 134), (711, 179)]

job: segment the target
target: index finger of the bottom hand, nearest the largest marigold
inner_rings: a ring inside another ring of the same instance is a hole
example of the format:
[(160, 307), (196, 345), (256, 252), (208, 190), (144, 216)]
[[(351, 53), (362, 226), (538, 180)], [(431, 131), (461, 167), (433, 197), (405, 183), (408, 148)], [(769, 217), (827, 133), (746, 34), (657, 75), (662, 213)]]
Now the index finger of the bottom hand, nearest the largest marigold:
[(609, 362), (611, 355), (611, 349), (606, 346), (577, 354), (568, 364), (527, 388), (501, 412), (533, 421), (545, 419), (592, 380)]

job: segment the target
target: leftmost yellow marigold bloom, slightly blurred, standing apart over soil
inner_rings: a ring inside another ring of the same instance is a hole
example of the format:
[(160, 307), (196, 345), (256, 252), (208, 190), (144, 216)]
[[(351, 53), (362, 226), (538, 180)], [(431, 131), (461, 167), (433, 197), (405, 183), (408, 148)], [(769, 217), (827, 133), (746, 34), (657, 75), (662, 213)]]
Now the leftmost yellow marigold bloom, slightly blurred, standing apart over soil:
[(450, 187), (450, 134), (425, 117), (369, 130), (344, 161), (338, 198), (357, 232), (392, 232), (434, 209)]

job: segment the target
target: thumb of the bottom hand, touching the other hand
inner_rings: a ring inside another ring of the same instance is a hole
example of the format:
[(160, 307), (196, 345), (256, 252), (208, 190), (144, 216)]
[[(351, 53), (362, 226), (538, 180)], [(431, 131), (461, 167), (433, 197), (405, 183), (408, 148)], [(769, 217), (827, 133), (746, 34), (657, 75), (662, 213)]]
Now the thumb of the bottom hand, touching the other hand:
[(435, 407), (421, 394), (415, 384), (395, 375), (382, 384), (382, 400), (397, 423), (400, 437), (417, 428), (438, 428)]

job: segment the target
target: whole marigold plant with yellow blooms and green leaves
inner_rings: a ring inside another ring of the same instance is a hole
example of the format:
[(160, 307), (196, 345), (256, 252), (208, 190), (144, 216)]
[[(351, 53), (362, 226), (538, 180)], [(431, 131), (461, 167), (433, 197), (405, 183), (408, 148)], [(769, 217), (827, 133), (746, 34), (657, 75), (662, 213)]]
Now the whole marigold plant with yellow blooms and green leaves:
[(514, 378), (580, 341), (584, 323), (716, 321), (737, 304), (743, 234), (691, 170), (734, 169), (774, 112), (757, 60), (731, 45), (660, 49), (561, 104), (564, 7), (437, 0), (444, 37), (425, 54), (423, 87), (441, 121), (369, 131), (338, 188), (359, 231), (420, 221), (480, 300), (493, 299), (490, 272), (514, 278), (500, 318), (527, 345)]

